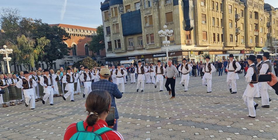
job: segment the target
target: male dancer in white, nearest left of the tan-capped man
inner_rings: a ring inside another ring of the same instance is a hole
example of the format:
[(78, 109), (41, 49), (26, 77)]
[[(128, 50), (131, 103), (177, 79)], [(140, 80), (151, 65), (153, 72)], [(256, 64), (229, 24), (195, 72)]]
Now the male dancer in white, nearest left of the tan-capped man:
[(84, 67), (84, 70), (85, 71), (80, 75), (80, 81), (84, 83), (84, 88), (85, 88), (83, 93), (83, 98), (85, 98), (86, 94), (89, 94), (92, 91), (91, 81), (95, 79), (95, 76), (90, 71), (88, 71), (87, 66)]

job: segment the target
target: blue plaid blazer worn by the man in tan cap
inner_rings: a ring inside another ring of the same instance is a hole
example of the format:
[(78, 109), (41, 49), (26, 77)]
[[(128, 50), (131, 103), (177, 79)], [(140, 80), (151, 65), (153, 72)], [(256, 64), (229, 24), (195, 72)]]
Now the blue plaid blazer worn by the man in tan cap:
[(116, 107), (115, 98), (121, 99), (121, 97), (123, 95), (119, 91), (117, 84), (109, 82), (106, 79), (100, 79), (100, 81), (93, 82), (91, 84), (91, 88), (92, 88), (92, 91), (99, 89), (99, 90), (106, 90), (107, 92), (109, 92), (109, 94), (111, 96), (111, 106), (115, 107), (115, 119), (119, 119), (119, 114), (118, 114), (118, 110)]

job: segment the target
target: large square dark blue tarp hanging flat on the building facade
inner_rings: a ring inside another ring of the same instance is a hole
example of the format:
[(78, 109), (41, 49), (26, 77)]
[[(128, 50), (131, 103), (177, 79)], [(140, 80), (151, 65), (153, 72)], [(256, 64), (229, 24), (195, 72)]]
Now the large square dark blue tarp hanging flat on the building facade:
[(142, 33), (142, 22), (140, 9), (121, 15), (123, 36)]

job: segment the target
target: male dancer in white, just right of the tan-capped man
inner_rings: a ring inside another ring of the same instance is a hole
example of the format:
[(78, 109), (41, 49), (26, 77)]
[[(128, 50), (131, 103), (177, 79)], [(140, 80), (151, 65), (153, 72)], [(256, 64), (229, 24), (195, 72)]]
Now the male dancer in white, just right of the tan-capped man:
[(117, 78), (117, 86), (119, 91), (124, 93), (124, 77), (126, 77), (127, 72), (124, 69), (121, 69), (121, 65), (117, 65), (117, 69), (113, 72), (113, 75)]

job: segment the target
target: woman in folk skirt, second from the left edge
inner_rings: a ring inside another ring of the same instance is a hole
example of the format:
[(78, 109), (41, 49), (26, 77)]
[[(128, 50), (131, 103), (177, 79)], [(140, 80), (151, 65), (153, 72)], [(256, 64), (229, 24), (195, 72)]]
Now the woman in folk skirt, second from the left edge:
[(15, 91), (15, 83), (12, 80), (12, 74), (8, 74), (8, 77), (6, 79), (7, 83), (9, 84), (8, 90), (9, 90), (9, 97), (10, 97), (10, 106), (15, 106), (15, 101), (17, 99), (17, 92)]

